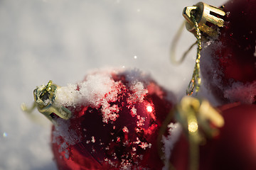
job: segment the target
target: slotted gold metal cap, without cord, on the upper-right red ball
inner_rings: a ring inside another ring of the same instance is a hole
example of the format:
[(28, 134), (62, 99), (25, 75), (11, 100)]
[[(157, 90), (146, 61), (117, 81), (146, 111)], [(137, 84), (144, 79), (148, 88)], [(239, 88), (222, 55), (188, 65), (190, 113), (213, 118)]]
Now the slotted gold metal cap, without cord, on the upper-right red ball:
[(223, 27), (225, 12), (215, 6), (210, 6), (203, 2), (198, 2), (194, 6), (187, 6), (183, 9), (183, 17), (186, 19), (186, 28), (191, 33), (196, 33), (191, 15), (194, 15), (198, 23), (199, 29), (211, 37), (218, 35), (218, 30), (213, 26)]

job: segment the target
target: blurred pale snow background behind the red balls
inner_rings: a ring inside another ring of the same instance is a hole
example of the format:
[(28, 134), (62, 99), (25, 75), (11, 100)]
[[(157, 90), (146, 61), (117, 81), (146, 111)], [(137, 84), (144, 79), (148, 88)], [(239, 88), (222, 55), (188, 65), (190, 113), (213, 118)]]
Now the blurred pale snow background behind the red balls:
[[(183, 7), (197, 2), (1, 0), (0, 170), (56, 169), (50, 123), (36, 111), (41, 122), (35, 123), (20, 108), (23, 102), (30, 106), (33, 89), (50, 79), (65, 86), (81, 81), (91, 69), (137, 67), (177, 98), (184, 96), (196, 49), (183, 64), (174, 66), (169, 47), (183, 22)], [(184, 30), (177, 57), (195, 40)]]

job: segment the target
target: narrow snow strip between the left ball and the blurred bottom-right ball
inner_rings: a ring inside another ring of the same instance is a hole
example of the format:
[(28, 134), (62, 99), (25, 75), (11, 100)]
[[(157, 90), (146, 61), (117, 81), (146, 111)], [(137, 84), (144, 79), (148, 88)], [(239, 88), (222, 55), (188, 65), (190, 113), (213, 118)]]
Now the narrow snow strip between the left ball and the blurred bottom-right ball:
[(181, 135), (181, 125), (179, 123), (170, 123), (168, 125), (169, 128), (169, 136), (164, 137), (163, 136), (163, 143), (164, 143), (164, 148), (163, 151), (165, 153), (165, 166), (163, 170), (167, 170), (169, 167), (169, 159), (171, 157), (171, 151), (174, 149), (175, 143), (178, 141), (178, 138)]

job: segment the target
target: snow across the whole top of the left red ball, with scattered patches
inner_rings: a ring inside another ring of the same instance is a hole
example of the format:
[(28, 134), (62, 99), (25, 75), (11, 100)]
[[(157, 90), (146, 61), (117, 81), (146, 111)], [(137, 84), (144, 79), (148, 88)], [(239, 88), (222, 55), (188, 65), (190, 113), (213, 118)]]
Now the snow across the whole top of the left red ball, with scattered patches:
[[(119, 81), (114, 81), (113, 73), (127, 77), (127, 88), (132, 91), (132, 95), (127, 98), (129, 103), (138, 103), (144, 100), (144, 96), (148, 93), (146, 86), (151, 80), (149, 75), (144, 76), (145, 73), (139, 71), (139, 69), (112, 68), (92, 72), (85, 77), (84, 81), (78, 84), (68, 84), (68, 86), (62, 86), (57, 89), (55, 92), (55, 107), (72, 106), (75, 108), (76, 106), (90, 106), (97, 109), (101, 107), (104, 123), (108, 123), (110, 120), (117, 120), (119, 108), (117, 105), (110, 106), (110, 103), (117, 101), (117, 95), (123, 84), (120, 84)], [(132, 114), (134, 115), (134, 112)], [(142, 119), (139, 122), (143, 125), (143, 118), (138, 119)]]

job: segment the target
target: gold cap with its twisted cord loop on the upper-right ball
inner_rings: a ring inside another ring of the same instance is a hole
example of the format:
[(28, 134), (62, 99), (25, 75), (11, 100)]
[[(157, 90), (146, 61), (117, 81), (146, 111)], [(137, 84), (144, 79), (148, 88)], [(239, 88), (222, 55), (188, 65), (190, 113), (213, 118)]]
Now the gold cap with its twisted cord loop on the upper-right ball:
[[(191, 81), (188, 84), (188, 88), (186, 89), (186, 94), (188, 96), (191, 96), (194, 91), (197, 93), (201, 86), (200, 60), (202, 39), (205, 39), (205, 37), (201, 36), (201, 32), (203, 32), (208, 37), (217, 36), (218, 31), (216, 28), (224, 26), (223, 16), (225, 16), (225, 12), (222, 11), (220, 8), (210, 6), (203, 2), (199, 2), (194, 6), (188, 6), (183, 9), (183, 17), (186, 19), (186, 23), (183, 23), (181, 28), (179, 28), (178, 33), (174, 37), (174, 40), (171, 44), (171, 62), (174, 64), (180, 64), (181, 62), (183, 62), (192, 47), (194, 45), (198, 46), (196, 52), (196, 64), (193, 69), (193, 75)], [(186, 29), (188, 31), (196, 36), (196, 42), (191, 45), (191, 47), (189, 47), (186, 52), (184, 52), (181, 60), (177, 61), (175, 57), (176, 44), (178, 42), (178, 39), (181, 37), (184, 25), (186, 26)]]

